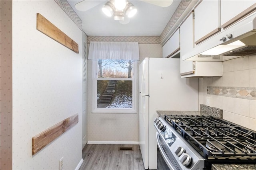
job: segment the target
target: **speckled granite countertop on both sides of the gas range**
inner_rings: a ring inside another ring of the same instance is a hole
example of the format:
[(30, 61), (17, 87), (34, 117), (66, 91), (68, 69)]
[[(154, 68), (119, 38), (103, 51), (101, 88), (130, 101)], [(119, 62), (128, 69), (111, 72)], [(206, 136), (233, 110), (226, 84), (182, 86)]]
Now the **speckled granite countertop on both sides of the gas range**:
[[(212, 115), (215, 117), (222, 118), (222, 110), (218, 110), (218, 108), (213, 108), (213, 109), (207, 108), (206, 110), (200, 108), (200, 110), (201, 111), (157, 110), (156, 113), (158, 113), (159, 116), (162, 116), (162, 115)], [(256, 170), (256, 164), (212, 164), (211, 170)]]

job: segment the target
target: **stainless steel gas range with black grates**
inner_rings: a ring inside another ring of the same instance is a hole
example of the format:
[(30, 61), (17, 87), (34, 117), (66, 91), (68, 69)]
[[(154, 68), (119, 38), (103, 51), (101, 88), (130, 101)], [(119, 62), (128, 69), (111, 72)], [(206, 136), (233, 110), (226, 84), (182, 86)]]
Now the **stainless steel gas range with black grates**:
[(170, 169), (210, 170), (211, 164), (256, 164), (256, 132), (204, 115), (154, 120), (158, 148)]

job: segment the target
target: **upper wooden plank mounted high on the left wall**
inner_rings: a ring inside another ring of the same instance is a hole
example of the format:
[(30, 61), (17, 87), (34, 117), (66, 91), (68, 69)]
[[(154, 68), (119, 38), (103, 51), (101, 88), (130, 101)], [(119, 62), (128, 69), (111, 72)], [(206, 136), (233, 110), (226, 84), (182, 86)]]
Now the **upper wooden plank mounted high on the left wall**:
[(36, 29), (72, 51), (79, 53), (78, 44), (39, 13), (36, 14)]

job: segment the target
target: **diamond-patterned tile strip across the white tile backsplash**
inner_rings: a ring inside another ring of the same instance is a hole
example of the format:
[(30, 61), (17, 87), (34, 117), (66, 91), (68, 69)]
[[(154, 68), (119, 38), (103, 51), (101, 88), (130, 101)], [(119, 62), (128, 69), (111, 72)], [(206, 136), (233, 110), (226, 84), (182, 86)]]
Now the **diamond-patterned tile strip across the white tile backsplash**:
[(255, 87), (207, 86), (207, 94), (225, 96), (225, 97), (230, 97), (230, 98), (256, 100), (256, 88)]

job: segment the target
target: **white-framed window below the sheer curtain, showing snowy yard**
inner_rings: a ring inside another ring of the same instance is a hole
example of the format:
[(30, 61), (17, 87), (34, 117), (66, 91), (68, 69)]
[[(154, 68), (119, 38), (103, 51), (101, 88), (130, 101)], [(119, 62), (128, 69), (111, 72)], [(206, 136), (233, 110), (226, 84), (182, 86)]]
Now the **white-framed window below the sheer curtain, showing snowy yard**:
[(93, 61), (93, 111), (135, 113), (134, 60), (97, 59)]

